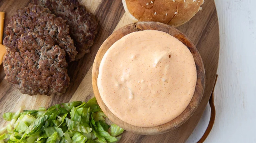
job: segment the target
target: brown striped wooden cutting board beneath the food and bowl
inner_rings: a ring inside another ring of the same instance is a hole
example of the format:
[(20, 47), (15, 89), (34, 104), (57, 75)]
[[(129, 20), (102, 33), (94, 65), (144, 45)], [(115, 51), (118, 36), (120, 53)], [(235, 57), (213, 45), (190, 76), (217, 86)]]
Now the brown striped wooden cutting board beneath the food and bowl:
[[(88, 101), (94, 96), (92, 88), (92, 65), (96, 53), (103, 41), (116, 29), (132, 23), (125, 14), (121, 0), (79, 0), (87, 10), (92, 12), (99, 23), (98, 34), (91, 53), (78, 62), (72, 62), (68, 69), (71, 78), (70, 86), (62, 96), (23, 95), (10, 83), (4, 80), (3, 66), (0, 66), (0, 116), (4, 112), (23, 109), (49, 107), (56, 103), (74, 100)], [(5, 26), (11, 15), (28, 5), (30, 0), (1, 0), (0, 11), (5, 11)], [(201, 10), (188, 23), (178, 27), (197, 47), (202, 56), (206, 84), (203, 99), (194, 115), (179, 128), (161, 135), (136, 135), (124, 132), (120, 142), (124, 143), (180, 143), (185, 142), (201, 118), (213, 89), (219, 60), (219, 25), (214, 0), (205, 0)], [(4, 35), (5, 36), (5, 35)], [(0, 124), (5, 121), (0, 118)]]

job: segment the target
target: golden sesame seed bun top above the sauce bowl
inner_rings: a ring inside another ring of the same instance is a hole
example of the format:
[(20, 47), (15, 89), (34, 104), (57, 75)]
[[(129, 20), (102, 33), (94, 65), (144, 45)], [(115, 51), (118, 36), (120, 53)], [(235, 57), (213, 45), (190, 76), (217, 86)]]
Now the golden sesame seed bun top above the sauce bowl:
[(123, 5), (134, 20), (179, 26), (201, 10), (203, 2), (204, 0), (123, 0)]

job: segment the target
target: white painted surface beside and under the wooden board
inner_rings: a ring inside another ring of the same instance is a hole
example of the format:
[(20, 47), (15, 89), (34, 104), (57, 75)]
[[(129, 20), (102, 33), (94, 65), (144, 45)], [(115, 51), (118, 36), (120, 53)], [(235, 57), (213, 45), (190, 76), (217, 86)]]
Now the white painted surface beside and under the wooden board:
[[(220, 26), (219, 78), (215, 124), (205, 142), (256, 143), (256, 0), (215, 3)], [(209, 117), (207, 106), (187, 143), (201, 138)]]

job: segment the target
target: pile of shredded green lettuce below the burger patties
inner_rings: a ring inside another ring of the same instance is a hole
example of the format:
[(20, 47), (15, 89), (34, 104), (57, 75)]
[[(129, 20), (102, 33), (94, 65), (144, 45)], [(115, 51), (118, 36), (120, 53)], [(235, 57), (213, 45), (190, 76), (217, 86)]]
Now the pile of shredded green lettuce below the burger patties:
[(0, 143), (109, 143), (120, 140), (123, 129), (109, 126), (95, 98), (87, 103), (56, 104), (47, 110), (3, 114), (10, 121), (0, 129)]

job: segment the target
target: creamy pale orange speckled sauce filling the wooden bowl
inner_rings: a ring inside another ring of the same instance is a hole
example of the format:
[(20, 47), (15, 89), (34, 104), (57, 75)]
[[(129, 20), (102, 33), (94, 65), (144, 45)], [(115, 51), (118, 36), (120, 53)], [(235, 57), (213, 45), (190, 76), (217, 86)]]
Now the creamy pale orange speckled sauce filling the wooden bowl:
[(194, 58), (175, 37), (157, 30), (130, 33), (115, 42), (99, 66), (97, 86), (110, 111), (138, 127), (178, 117), (197, 80)]

